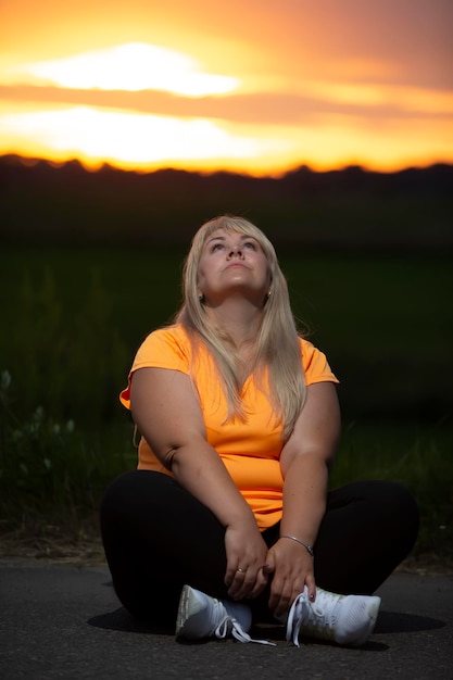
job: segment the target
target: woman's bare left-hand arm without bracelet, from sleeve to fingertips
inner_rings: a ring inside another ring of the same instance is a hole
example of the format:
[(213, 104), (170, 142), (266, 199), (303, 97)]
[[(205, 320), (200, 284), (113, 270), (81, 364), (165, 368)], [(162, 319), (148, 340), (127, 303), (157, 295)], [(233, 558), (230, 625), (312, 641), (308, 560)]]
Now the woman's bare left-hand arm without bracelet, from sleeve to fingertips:
[[(190, 378), (166, 368), (140, 368), (133, 375), (130, 411), (159, 461), (209, 507), (226, 529), (229, 593), (247, 596), (262, 589), (260, 570), (267, 547), (248, 503), (216, 451), (206, 441), (198, 395)], [(237, 571), (238, 568), (246, 572)]]

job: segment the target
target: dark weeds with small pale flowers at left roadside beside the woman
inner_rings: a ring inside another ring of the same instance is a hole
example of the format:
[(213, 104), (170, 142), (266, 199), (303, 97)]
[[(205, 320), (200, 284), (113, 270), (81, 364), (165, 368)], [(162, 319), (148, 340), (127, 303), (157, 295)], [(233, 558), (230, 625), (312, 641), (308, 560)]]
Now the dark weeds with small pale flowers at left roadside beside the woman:
[(129, 427), (99, 435), (58, 421), (38, 406), (27, 419), (11, 408), (12, 378), (0, 376), (0, 530), (77, 534), (98, 513), (110, 480), (135, 466)]

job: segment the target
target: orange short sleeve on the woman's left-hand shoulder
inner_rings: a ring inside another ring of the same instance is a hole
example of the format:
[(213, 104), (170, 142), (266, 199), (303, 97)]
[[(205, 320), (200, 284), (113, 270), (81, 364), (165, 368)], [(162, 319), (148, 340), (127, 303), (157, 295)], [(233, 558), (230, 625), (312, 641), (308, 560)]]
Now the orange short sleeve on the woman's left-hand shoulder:
[(123, 406), (130, 408), (130, 383), (139, 368), (168, 368), (190, 373), (190, 343), (181, 329), (162, 328), (150, 333), (139, 347), (129, 372), (127, 387), (119, 393)]

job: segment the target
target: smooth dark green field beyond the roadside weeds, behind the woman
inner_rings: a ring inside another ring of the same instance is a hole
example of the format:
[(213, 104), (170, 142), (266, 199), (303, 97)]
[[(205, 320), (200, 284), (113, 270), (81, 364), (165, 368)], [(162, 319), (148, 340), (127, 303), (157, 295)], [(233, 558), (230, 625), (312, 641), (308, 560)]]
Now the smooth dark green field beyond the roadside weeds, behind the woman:
[[(0, 368), (13, 377), (18, 411), (115, 418), (137, 345), (180, 302), (183, 257), (152, 247), (3, 248)], [(348, 419), (451, 418), (450, 259), (280, 262), (295, 315), (340, 378)]]

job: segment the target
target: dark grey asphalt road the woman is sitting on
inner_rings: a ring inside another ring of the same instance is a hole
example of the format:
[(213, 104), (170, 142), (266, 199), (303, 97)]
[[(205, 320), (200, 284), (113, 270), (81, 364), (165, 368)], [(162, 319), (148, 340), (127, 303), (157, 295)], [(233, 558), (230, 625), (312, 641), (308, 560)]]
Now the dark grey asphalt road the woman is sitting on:
[(234, 640), (175, 642), (121, 607), (106, 568), (0, 564), (1, 680), (453, 680), (453, 576), (394, 574), (375, 633), (360, 648)]

